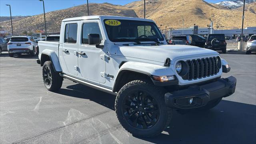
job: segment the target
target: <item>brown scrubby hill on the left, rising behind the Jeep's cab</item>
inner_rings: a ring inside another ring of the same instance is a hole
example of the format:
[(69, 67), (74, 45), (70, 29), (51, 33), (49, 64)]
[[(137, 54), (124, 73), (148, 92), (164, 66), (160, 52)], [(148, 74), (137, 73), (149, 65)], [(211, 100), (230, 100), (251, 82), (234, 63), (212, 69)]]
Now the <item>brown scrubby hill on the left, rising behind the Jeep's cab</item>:
[[(90, 15), (111, 15), (111, 16), (130, 16), (138, 17), (136, 13), (123, 6), (113, 4), (89, 4)], [(87, 6), (80, 5), (64, 10), (56, 10), (46, 13), (46, 28), (47, 32), (59, 32), (61, 21), (64, 18), (72, 18), (78, 16), (87, 16)], [(30, 16), (23, 19), (12, 20), (14, 34), (18, 35), (24, 31), (35, 32), (35, 30), (44, 30), (44, 14)], [(11, 29), (10, 20), (0, 22), (0, 26), (6, 30)]]

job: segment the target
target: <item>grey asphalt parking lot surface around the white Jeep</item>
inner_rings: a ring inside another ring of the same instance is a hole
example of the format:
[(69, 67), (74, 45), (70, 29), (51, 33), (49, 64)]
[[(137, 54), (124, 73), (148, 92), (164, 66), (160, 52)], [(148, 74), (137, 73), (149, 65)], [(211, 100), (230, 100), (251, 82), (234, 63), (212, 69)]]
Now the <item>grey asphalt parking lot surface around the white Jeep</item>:
[(256, 143), (256, 55), (221, 54), (236, 92), (208, 112), (174, 112), (169, 128), (136, 138), (119, 124), (115, 96), (64, 80), (49, 92), (35, 57), (0, 55), (0, 143)]

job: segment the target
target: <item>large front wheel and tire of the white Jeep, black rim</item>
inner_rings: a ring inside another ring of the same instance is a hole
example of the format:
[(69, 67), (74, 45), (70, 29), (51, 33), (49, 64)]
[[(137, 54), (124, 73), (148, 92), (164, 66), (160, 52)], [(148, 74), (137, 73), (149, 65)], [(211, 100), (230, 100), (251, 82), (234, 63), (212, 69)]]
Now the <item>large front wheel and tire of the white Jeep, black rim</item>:
[[(159, 87), (142, 80), (134, 80), (124, 85), (115, 101), (116, 116), (124, 129), (134, 136), (144, 138), (160, 134), (172, 118), (172, 109), (166, 107), (163, 92)], [(135, 94), (138, 94), (137, 97)], [(127, 105), (130, 102), (135, 105)]]

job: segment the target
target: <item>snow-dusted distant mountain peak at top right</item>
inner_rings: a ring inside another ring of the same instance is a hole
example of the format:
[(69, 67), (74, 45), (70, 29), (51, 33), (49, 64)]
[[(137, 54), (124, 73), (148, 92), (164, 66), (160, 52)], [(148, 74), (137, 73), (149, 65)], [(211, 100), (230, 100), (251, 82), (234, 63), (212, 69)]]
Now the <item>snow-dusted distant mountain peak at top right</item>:
[[(245, 0), (246, 4), (251, 4), (253, 2), (256, 2), (256, 0)], [(218, 2), (216, 4), (234, 9), (234, 8), (243, 6), (244, 0), (228, 0), (228, 1)]]

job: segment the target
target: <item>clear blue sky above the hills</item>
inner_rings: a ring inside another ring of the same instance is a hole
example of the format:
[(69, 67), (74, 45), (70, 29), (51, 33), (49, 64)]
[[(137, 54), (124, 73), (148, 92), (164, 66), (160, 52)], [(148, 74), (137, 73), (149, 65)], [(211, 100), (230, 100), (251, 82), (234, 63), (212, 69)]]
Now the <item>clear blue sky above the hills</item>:
[[(89, 0), (89, 3), (104, 3), (125, 5), (138, 0)], [(216, 3), (223, 0), (205, 0), (206, 2)], [(5, 4), (10, 4), (12, 8), (12, 16), (33, 16), (42, 14), (43, 6), (39, 0), (0, 0), (0, 16), (10, 16), (9, 7)], [(86, 4), (86, 0), (44, 0), (45, 11), (61, 10)], [(89, 8), (90, 9), (90, 8)]]

